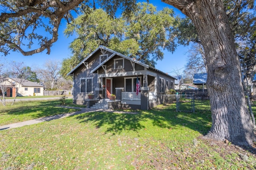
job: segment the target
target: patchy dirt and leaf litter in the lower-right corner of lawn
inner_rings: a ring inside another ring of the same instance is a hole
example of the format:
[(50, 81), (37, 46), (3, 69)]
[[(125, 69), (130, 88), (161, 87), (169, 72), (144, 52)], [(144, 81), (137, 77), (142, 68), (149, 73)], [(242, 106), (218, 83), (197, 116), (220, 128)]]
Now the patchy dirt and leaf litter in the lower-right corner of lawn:
[(136, 169), (256, 169), (256, 149), (249, 151), (224, 141), (204, 139), (203, 136), (194, 139), (193, 145), (182, 144), (179, 148), (160, 143), (157, 150), (152, 149), (144, 156), (144, 159), (137, 156), (133, 162)]

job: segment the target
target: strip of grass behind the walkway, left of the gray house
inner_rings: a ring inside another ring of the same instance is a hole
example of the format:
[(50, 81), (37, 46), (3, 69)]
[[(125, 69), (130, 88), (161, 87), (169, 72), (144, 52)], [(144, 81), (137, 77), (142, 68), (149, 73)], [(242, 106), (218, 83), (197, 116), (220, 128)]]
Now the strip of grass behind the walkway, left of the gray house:
[[(66, 103), (67, 106), (78, 107), (78, 105), (72, 104), (72, 99), (66, 99)], [(78, 110), (56, 107), (58, 105), (60, 105), (59, 100), (21, 101), (15, 102), (13, 106), (10, 106), (10, 103), (7, 103), (6, 106), (0, 105), (0, 125), (8, 125), (62, 113), (72, 113)]]

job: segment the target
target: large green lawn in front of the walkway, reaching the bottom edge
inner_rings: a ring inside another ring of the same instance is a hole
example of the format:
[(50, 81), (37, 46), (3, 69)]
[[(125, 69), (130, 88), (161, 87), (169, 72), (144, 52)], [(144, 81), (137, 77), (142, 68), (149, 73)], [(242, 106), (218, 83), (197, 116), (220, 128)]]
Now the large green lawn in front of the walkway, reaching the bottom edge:
[(83, 113), (0, 131), (0, 170), (256, 167), (251, 152), (202, 139), (211, 127), (207, 109), (196, 113), (175, 110), (172, 104), (135, 115)]

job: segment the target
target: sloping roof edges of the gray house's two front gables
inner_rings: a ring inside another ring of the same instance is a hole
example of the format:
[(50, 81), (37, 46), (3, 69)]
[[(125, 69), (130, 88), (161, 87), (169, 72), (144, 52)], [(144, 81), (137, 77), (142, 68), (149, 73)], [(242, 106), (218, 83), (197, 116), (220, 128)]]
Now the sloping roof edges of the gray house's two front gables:
[[(112, 59), (112, 57), (118, 55), (118, 56), (123, 57), (124, 59), (127, 59), (127, 60), (129, 60), (129, 61), (132, 61), (132, 62), (134, 62), (134, 63), (136, 63), (136, 64), (140, 64), (141, 66), (144, 66), (144, 67), (146, 67), (146, 68), (151, 68), (152, 70), (155, 70), (155, 71), (157, 71), (157, 72), (160, 72), (160, 73), (162, 73), (162, 74), (165, 74), (166, 76), (169, 76), (169, 77), (171, 77), (171, 78), (174, 78), (174, 77), (170, 76), (169, 74), (166, 74), (165, 72), (162, 72), (162, 71), (160, 71), (160, 70), (158, 70), (158, 69), (156, 69), (156, 68), (154, 68), (154, 67), (149, 66), (148, 64), (145, 64), (145, 63), (142, 63), (142, 62), (140, 62), (140, 61), (138, 61), (138, 60), (132, 59), (132, 58), (126, 56), (126, 55), (123, 55), (123, 54), (121, 54), (121, 53), (118, 53), (118, 52), (116, 52), (116, 51), (114, 51), (114, 50), (112, 50), (112, 49), (109, 49), (109, 48), (107, 48), (107, 47), (105, 47), (105, 46), (102, 46), (102, 45), (100, 45), (96, 50), (94, 50), (90, 55), (88, 55), (88, 56), (87, 56), (83, 61), (81, 61), (75, 68), (73, 68), (73, 69), (68, 73), (68, 75), (73, 74), (73, 72), (74, 72), (80, 65), (82, 65), (84, 62), (86, 62), (90, 57), (92, 57), (92, 55), (93, 55), (94, 53), (96, 53), (96, 52), (97, 52), (98, 50), (100, 50), (100, 49), (104, 49), (104, 50), (106, 50), (106, 51), (109, 51), (109, 52), (112, 53), (112, 55), (110, 55), (105, 61), (103, 61), (103, 62), (100, 63), (96, 68), (94, 68), (94, 69), (91, 71), (91, 73), (94, 72), (94, 71), (96, 71), (98, 68), (100, 68), (100, 66), (102, 66), (103, 64), (105, 64), (106, 62), (108, 62), (110, 59)], [(177, 80), (176, 78), (174, 78), (174, 79)]]

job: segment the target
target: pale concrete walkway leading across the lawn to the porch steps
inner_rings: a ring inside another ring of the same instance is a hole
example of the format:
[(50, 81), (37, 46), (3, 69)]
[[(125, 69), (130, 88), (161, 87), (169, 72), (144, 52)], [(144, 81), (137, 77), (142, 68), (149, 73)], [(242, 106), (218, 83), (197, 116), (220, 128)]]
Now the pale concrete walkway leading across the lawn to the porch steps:
[(91, 108), (69, 107), (69, 106), (59, 106), (59, 107), (80, 109), (80, 111), (75, 111), (73, 113), (64, 113), (64, 114), (59, 114), (59, 115), (53, 115), (53, 116), (48, 116), (48, 117), (42, 117), (42, 118), (38, 118), (38, 119), (33, 119), (33, 120), (28, 120), (28, 121), (23, 121), (23, 122), (18, 122), (18, 123), (12, 123), (10, 125), (3, 125), (3, 126), (0, 126), (0, 131), (5, 130), (5, 129), (12, 129), (12, 128), (16, 128), (16, 127), (22, 127), (22, 126), (26, 126), (26, 125), (33, 125), (33, 124), (41, 123), (41, 122), (44, 122), (44, 121), (51, 121), (51, 120), (55, 120), (55, 119), (61, 119), (61, 118), (72, 116), (72, 115), (78, 115), (78, 114), (81, 114), (81, 113), (88, 113), (88, 112), (94, 112), (94, 111), (122, 113), (122, 114), (137, 114), (136, 112), (115, 111), (115, 110), (108, 110), (108, 109), (91, 109)]

